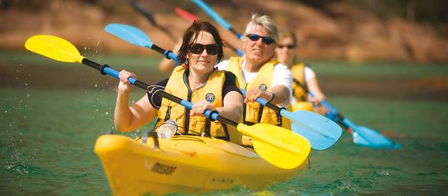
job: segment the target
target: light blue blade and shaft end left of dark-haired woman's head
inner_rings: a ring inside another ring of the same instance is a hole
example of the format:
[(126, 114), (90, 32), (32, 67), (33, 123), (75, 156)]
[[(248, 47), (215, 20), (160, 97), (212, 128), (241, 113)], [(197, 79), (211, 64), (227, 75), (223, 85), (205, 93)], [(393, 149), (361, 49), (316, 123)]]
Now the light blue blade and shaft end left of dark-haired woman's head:
[(167, 59), (172, 59), (176, 62), (176, 65), (179, 65), (177, 56), (171, 50), (163, 50), (159, 46), (156, 46), (156, 44), (152, 43), (150, 38), (147, 37), (146, 34), (138, 28), (119, 23), (111, 23), (108, 24), (108, 26), (105, 26), (104, 30), (134, 45), (150, 48), (152, 50), (156, 50), (157, 52), (161, 52)]

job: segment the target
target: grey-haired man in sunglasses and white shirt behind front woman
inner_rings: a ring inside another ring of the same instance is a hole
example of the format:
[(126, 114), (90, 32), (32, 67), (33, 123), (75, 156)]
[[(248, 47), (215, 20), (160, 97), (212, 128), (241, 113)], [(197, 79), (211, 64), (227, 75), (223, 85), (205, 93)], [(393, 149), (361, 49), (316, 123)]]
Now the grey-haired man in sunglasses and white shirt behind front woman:
[(238, 77), (246, 90), (243, 122), (245, 124), (274, 124), (290, 129), (290, 122), (269, 108), (256, 103), (261, 97), (281, 107), (289, 106), (292, 94), (292, 76), (280, 61), (272, 59), (278, 32), (274, 21), (267, 16), (252, 15), (247, 23), (243, 40), (244, 57), (231, 57), (218, 64), (220, 70), (229, 70)]

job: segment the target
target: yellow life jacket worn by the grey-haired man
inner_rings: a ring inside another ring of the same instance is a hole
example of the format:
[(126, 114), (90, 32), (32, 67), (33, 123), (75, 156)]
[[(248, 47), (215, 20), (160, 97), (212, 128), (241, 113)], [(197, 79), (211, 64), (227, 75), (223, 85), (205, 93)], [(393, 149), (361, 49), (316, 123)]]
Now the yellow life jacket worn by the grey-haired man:
[[(229, 64), (227, 66), (227, 70), (233, 72), (234, 75), (236, 75), (236, 77), (238, 78), (238, 84), (240, 85), (240, 88), (243, 88), (245, 90), (252, 88), (267, 90), (269, 88), (272, 88), (271, 84), (272, 84), (272, 74), (274, 73), (274, 66), (277, 63), (280, 63), (280, 61), (271, 60), (265, 63), (260, 68), (260, 70), (258, 70), (256, 77), (254, 77), (254, 79), (252, 79), (252, 81), (250, 81), (250, 83), (247, 84), (243, 80), (243, 73), (242, 73), (243, 60), (244, 59), (242, 57), (231, 57), (229, 59)], [(288, 106), (288, 108), (292, 109), (291, 106)], [(261, 106), (256, 102), (249, 102), (244, 105), (243, 123), (274, 124), (287, 128), (289, 130), (291, 129), (291, 122), (288, 119), (281, 117), (280, 114), (278, 114), (278, 112), (276, 112), (275, 110)]]

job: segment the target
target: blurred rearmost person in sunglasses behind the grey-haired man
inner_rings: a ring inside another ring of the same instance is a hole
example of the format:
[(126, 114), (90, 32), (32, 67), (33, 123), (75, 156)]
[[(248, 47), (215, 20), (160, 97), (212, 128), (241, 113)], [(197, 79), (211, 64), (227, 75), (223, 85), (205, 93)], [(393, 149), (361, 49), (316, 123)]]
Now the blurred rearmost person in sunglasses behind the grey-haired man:
[[(294, 110), (311, 110), (314, 107), (307, 100), (312, 100), (316, 105), (325, 99), (325, 95), (320, 90), (316, 74), (305, 63), (297, 60), (296, 46), (297, 39), (294, 32), (280, 31), (276, 48), (276, 57), (282, 61), (292, 72), (292, 104)], [(309, 96), (308, 92), (312, 92), (314, 96)], [(327, 108), (319, 106), (316, 112), (324, 115)]]

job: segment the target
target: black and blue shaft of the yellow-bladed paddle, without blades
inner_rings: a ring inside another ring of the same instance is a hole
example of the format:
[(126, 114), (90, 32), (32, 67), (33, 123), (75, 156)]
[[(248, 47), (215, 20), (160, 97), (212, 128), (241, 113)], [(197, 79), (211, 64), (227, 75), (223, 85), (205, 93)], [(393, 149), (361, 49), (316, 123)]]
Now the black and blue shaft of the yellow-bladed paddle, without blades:
[[(85, 58), (82, 60), (82, 63), (86, 66), (90, 66), (91, 68), (99, 70), (101, 72), (101, 74), (103, 74), (103, 75), (110, 75), (112, 77), (119, 79), (119, 72), (117, 70), (114, 70), (113, 68), (110, 68), (108, 65), (101, 65), (99, 63), (95, 63), (94, 61), (90, 61), (89, 59), (85, 59)], [(133, 77), (128, 78), (128, 81), (130, 84), (132, 84), (134, 86), (138, 86), (139, 88), (142, 88), (144, 90), (149, 90), (148, 88), (151, 87), (150, 85), (145, 84)], [(184, 99), (181, 99), (179, 97), (171, 95), (170, 93), (167, 93), (163, 90), (156, 90), (154, 93), (163, 98), (170, 99), (171, 101), (174, 101), (177, 104), (181, 104), (182, 106), (185, 106), (185, 108), (188, 108), (190, 110), (193, 108), (193, 104), (190, 101), (186, 101)], [(219, 115), (218, 112), (205, 110), (203, 115), (205, 117), (208, 117), (208, 118), (214, 120), (214, 121), (217, 120), (224, 124), (229, 124), (230, 126), (234, 126), (234, 127), (238, 126), (238, 123)]]

